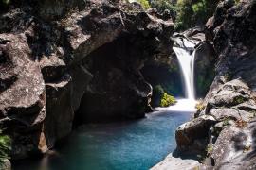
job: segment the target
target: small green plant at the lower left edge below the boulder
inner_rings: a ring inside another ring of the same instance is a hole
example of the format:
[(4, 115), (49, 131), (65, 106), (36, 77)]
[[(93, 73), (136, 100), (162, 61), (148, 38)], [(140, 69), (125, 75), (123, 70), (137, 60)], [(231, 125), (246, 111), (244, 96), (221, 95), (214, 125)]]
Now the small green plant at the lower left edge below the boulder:
[(0, 166), (5, 159), (9, 159), (10, 139), (0, 131)]

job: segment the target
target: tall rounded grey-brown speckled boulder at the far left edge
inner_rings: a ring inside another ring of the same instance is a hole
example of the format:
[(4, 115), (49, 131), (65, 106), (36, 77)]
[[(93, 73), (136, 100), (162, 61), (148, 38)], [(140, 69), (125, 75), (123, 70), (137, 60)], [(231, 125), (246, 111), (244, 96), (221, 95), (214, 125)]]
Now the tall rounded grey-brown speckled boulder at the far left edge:
[(13, 143), (13, 159), (38, 149), (46, 117), (45, 82), (24, 34), (0, 34), (0, 126)]

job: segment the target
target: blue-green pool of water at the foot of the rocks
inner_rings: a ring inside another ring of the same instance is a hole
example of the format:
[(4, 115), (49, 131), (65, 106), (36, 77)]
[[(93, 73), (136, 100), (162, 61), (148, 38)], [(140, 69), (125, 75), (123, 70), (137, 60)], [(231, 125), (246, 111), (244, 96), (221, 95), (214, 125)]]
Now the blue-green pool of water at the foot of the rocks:
[(79, 127), (54, 156), (20, 161), (14, 170), (146, 170), (175, 148), (175, 128), (192, 112), (161, 110), (131, 122)]

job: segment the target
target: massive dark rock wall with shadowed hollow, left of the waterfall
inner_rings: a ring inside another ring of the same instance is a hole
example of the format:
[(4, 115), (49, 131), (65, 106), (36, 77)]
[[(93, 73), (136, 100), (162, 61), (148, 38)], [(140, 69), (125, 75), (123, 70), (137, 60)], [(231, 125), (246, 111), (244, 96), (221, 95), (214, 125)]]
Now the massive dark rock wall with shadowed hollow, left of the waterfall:
[[(12, 159), (44, 152), (75, 123), (143, 117), (140, 73), (170, 56), (173, 22), (119, 1), (19, 1), (0, 14), (0, 125)], [(74, 118), (75, 117), (75, 118)]]

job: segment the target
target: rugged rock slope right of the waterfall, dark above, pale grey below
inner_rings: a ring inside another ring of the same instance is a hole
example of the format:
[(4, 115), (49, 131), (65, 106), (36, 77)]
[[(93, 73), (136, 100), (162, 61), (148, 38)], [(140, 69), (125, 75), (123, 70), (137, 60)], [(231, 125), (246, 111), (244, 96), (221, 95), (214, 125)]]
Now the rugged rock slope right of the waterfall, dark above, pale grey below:
[(221, 2), (206, 26), (218, 55), (216, 76), (195, 119), (176, 131), (178, 150), (201, 150), (201, 169), (256, 168), (255, 31), (254, 0)]

